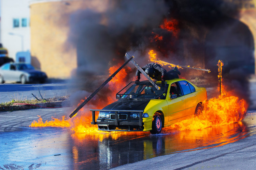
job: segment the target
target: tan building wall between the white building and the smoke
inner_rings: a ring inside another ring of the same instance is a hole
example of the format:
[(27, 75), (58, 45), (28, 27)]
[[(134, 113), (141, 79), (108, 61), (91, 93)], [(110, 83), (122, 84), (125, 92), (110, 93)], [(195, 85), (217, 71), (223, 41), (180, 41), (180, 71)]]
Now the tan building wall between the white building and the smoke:
[[(72, 0), (37, 0), (30, 4), (31, 63), (51, 78), (69, 78), (77, 68), (76, 48), (69, 43), (69, 19), (73, 12), (97, 3)], [(102, 2), (100, 2), (102, 3)], [(100, 9), (99, 9), (100, 10)]]

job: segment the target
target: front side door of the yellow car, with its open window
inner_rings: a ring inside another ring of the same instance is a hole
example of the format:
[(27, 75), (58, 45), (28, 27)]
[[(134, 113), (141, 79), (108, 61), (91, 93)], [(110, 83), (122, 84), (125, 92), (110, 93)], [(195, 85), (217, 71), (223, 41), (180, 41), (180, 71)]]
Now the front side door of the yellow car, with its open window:
[(170, 95), (176, 94), (176, 99), (171, 99), (167, 96), (168, 103), (168, 122), (169, 124), (180, 121), (180, 118), (186, 116), (185, 97), (182, 96), (182, 91), (178, 83), (172, 83), (170, 86)]

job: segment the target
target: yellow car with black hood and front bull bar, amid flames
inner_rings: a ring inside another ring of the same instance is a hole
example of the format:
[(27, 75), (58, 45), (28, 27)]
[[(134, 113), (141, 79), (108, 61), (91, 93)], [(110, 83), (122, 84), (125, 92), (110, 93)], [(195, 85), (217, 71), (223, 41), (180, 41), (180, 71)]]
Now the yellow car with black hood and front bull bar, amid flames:
[(116, 94), (116, 102), (102, 110), (90, 109), (93, 115), (91, 124), (97, 124), (101, 131), (150, 131), (157, 134), (163, 127), (202, 112), (202, 102), (207, 100), (204, 87), (197, 87), (185, 79), (156, 84), (159, 90), (149, 81), (129, 83)]

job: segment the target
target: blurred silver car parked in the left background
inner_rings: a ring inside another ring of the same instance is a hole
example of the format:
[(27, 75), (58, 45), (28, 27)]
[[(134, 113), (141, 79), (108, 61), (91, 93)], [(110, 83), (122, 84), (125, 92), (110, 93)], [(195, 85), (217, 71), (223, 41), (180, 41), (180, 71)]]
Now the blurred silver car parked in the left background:
[(6, 63), (0, 67), (0, 83), (29, 82), (44, 83), (47, 79), (45, 72), (35, 70), (31, 64), (27, 63)]

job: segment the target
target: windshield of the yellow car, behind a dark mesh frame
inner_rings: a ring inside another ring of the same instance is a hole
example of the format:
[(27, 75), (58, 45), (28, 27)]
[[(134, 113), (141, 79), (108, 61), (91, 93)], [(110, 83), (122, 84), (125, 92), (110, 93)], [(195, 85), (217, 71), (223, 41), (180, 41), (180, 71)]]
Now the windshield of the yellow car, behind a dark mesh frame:
[(157, 90), (150, 82), (131, 82), (116, 95), (121, 99), (166, 99), (168, 84), (156, 83)]

